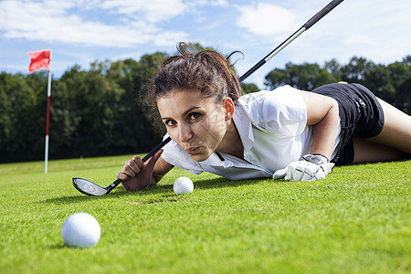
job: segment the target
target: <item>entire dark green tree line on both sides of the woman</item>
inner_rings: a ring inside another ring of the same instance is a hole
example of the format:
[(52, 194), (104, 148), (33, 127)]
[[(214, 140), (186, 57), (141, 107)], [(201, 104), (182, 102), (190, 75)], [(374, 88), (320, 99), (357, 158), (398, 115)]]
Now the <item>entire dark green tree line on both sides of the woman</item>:
[[(162, 139), (147, 118), (138, 91), (155, 75), (167, 55), (157, 52), (139, 61), (95, 61), (90, 69), (68, 68), (51, 84), (49, 158), (146, 153)], [(374, 94), (410, 113), (411, 56), (387, 66), (365, 58), (341, 65), (288, 63), (265, 78), (265, 89), (288, 84), (313, 90), (338, 82), (364, 84)], [(242, 84), (243, 93), (258, 90)], [(0, 163), (44, 159), (47, 72), (0, 73)]]

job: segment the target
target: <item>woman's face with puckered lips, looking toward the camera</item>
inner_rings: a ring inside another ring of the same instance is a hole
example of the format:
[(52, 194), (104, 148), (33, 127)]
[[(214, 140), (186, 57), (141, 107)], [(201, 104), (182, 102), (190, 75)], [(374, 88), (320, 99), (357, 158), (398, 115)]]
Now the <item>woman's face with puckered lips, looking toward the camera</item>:
[(226, 134), (226, 103), (196, 90), (172, 91), (157, 99), (157, 108), (170, 137), (197, 162), (214, 153)]

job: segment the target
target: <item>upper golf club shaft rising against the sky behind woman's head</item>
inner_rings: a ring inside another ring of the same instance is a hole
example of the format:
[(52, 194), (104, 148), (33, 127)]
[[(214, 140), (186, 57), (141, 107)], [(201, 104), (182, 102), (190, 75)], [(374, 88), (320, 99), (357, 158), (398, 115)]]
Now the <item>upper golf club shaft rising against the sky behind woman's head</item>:
[(320, 21), (320, 19), (332, 11), (332, 9), (342, 3), (343, 0), (332, 0), (328, 5), (326, 5), (320, 12), (318, 12), (315, 16), (312, 16), (310, 20), (308, 20), (304, 25), (302, 25), (295, 33), (293, 33), (290, 37), (288, 37), (284, 42), (279, 44), (279, 47), (274, 48), (265, 58), (259, 60), (259, 62), (254, 65), (254, 67), (249, 68), (246, 73), (243, 74), (239, 78), (239, 81), (242, 82), (243, 80), (247, 79), (254, 71), (258, 68), (261, 68), (270, 58), (273, 58), (275, 55), (279, 53), (284, 47), (287, 47), (292, 41), (294, 41), (297, 37), (299, 37), (304, 31), (309, 29), (315, 23)]

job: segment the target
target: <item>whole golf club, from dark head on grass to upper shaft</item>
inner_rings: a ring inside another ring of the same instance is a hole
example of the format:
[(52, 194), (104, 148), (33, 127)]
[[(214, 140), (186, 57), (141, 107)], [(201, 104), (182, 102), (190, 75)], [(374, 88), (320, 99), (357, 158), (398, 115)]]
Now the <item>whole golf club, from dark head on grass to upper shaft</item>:
[[(342, 3), (343, 0), (332, 0), (328, 5), (326, 5), (324, 8), (321, 9), (320, 12), (318, 12), (315, 16), (312, 16), (310, 20), (308, 20), (304, 25), (302, 25), (294, 34), (292, 34), (290, 37), (288, 37), (284, 42), (279, 44), (279, 47), (274, 48), (265, 58), (262, 58), (261, 60), (258, 61), (254, 67), (248, 69), (248, 71), (239, 78), (239, 81), (242, 82), (243, 80), (247, 79), (248, 76), (250, 76), (254, 71), (256, 71), (258, 68), (261, 68), (267, 61), (269, 61), (270, 58), (273, 58), (275, 55), (279, 53), (284, 47), (287, 47), (293, 40), (295, 40), (297, 37), (299, 37), (304, 31), (309, 29), (311, 26), (313, 26), (315, 23), (317, 23), (323, 16), (328, 14), (332, 9)], [(153, 156), (153, 154), (157, 153), (166, 143), (170, 142), (171, 138), (168, 137), (165, 139), (163, 142), (159, 143), (156, 147), (153, 148), (153, 150), (145, 155), (142, 158), (142, 162), (146, 162), (150, 157)], [(109, 186), (107, 187), (102, 187), (98, 184), (94, 184), (93, 182), (82, 179), (82, 178), (73, 178), (73, 185), (76, 187), (79, 192), (85, 195), (93, 195), (93, 196), (99, 196), (99, 195), (106, 195), (111, 192), (117, 185), (121, 183), (120, 179), (115, 180), (112, 182)]]

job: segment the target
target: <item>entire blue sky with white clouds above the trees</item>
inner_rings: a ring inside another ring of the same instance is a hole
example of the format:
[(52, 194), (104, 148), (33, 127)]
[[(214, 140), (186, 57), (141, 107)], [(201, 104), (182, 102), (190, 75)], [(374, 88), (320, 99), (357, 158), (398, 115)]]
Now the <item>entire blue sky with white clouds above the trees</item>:
[[(199, 42), (227, 55), (240, 50), (238, 74), (329, 3), (329, 0), (3, 0), (0, 1), (0, 71), (27, 73), (26, 52), (52, 50), (59, 78), (74, 65), (95, 60), (139, 60), (173, 54), (179, 41)], [(410, 0), (345, 0), (258, 69), (247, 82), (263, 88), (264, 76), (287, 62), (359, 56), (375, 63), (411, 54)]]

